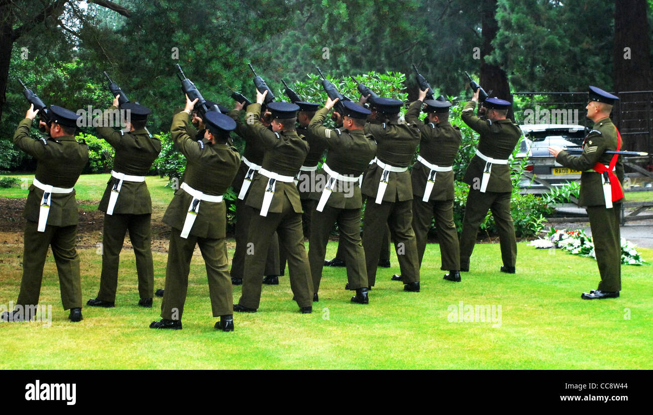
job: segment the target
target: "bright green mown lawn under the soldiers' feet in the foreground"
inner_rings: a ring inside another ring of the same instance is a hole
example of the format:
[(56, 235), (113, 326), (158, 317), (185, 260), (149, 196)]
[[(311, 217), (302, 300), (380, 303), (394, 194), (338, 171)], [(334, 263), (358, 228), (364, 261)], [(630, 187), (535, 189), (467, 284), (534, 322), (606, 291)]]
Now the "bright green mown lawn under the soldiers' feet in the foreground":
[[(0, 247), (0, 303), (15, 301), (19, 246)], [(217, 332), (201, 257), (191, 265), (183, 330), (155, 331), (155, 308), (136, 306), (133, 253), (124, 253), (118, 307), (84, 308), (71, 323), (61, 309), (56, 267), (48, 258), (40, 301), (52, 304), (52, 326), (0, 323), (0, 369), (652, 369), (653, 287), (650, 265), (623, 266), (618, 299), (581, 300), (596, 288), (596, 262), (519, 244), (517, 274), (502, 274), (497, 244), (479, 244), (462, 283), (442, 279), (439, 248), (427, 248), (421, 293), (404, 293), (379, 268), (370, 304), (351, 304), (343, 268), (325, 268), (320, 301), (301, 315), (287, 276), (263, 287), (255, 314), (237, 313), (236, 330)], [(327, 257), (336, 251), (328, 246)], [(653, 250), (641, 250), (653, 261)], [(231, 252), (230, 252), (231, 253)], [(101, 257), (80, 250), (84, 300), (95, 296)], [(166, 255), (154, 253), (156, 287), (163, 287)], [(234, 299), (240, 296), (234, 287)], [(492, 322), (449, 322), (459, 302), (502, 306)]]

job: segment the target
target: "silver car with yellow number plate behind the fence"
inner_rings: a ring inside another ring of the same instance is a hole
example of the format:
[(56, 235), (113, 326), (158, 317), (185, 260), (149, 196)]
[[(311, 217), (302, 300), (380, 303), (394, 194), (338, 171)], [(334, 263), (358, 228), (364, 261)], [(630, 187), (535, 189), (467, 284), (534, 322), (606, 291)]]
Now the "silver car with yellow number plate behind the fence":
[[(581, 179), (581, 172), (564, 167), (549, 154), (547, 147), (582, 146), (585, 127), (577, 124), (526, 124), (520, 126), (524, 139), (517, 160), (527, 158), (526, 173), (519, 182), (521, 193), (547, 193), (549, 186), (561, 186)], [(549, 184), (549, 186), (547, 186)]]

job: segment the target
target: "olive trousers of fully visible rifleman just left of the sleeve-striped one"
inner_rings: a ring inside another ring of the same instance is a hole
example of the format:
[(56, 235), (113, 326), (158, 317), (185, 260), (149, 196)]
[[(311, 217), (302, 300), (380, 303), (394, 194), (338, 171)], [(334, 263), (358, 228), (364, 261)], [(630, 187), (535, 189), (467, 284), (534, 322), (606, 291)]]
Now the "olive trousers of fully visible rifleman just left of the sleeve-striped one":
[(254, 254), (245, 258), (242, 296), (238, 304), (247, 308), (259, 308), (263, 286), (265, 256), (272, 242), (274, 231), (279, 235), (279, 248), (283, 246), (288, 258), (290, 287), (300, 307), (313, 304), (313, 279), (304, 247), (302, 233), (302, 214), (295, 213), (290, 199), (284, 195), (281, 213), (268, 212), (261, 216), (259, 210), (249, 225), (248, 240), (254, 245)]

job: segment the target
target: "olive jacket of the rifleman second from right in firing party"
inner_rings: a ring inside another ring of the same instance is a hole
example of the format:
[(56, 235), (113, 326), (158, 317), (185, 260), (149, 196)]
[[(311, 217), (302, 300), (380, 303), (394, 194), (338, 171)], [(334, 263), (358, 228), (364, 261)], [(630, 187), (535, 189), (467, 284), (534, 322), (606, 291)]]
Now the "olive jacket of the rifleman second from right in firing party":
[[(460, 128), (451, 125), (449, 121), (439, 122), (438, 125), (432, 122), (422, 123), (418, 118), (422, 104), (422, 101), (417, 100), (406, 111), (406, 121), (417, 125), (422, 134), (422, 139), (419, 141), (419, 155), (430, 164), (449, 167), (453, 165), (462, 140)], [(421, 200), (424, 196), (429, 171), (430, 169), (421, 162), (413, 165), (411, 179), (413, 195), (417, 199)], [(453, 170), (438, 171), (429, 200), (451, 200), (453, 197)]]

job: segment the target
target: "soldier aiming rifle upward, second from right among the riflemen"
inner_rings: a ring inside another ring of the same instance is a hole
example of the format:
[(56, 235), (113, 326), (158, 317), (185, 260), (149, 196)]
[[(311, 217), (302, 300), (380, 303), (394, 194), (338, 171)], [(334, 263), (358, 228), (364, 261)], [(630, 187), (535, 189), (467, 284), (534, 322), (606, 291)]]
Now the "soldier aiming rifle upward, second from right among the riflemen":
[[(460, 281), (460, 251), (458, 233), (453, 222), (453, 166), (462, 136), (457, 126), (449, 122), (451, 102), (444, 97), (426, 100), (426, 91), (408, 107), (406, 121), (419, 126), (422, 139), (419, 157), (413, 165), (413, 231), (417, 238), (417, 255), (422, 265), (426, 239), (435, 216), (440, 245), (441, 270), (449, 270), (444, 279)], [(419, 122), (419, 110), (424, 104), (428, 114), (424, 124)]]

